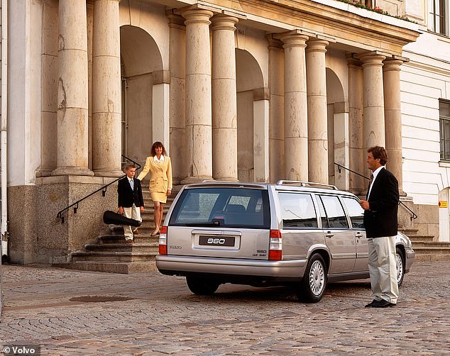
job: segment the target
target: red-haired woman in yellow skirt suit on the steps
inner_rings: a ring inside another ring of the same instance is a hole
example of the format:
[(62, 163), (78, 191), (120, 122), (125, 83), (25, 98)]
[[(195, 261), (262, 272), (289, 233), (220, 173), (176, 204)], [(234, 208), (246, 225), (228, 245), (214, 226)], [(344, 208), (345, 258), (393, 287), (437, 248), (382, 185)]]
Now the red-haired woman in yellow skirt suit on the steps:
[(153, 143), (150, 157), (147, 157), (146, 165), (144, 165), (138, 179), (142, 180), (148, 172), (150, 172), (150, 198), (155, 208), (153, 216), (155, 230), (151, 235), (155, 236), (160, 233), (164, 204), (167, 197), (172, 193), (172, 165), (170, 157), (166, 155), (163, 143), (159, 141)]

